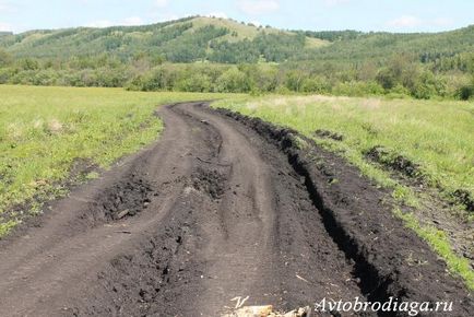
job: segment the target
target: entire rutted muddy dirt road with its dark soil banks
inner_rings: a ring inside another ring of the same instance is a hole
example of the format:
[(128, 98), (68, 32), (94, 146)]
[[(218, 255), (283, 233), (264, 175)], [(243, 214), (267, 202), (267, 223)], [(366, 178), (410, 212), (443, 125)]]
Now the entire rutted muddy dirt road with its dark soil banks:
[(221, 316), (237, 296), (453, 301), (447, 316), (470, 316), (462, 282), (355, 168), (205, 104), (158, 115), (158, 142), (0, 242), (0, 316)]

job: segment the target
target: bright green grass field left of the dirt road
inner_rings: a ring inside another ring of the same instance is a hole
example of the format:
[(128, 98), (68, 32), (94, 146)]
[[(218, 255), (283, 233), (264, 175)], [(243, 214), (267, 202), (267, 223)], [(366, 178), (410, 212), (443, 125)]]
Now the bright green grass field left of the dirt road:
[(0, 85), (0, 96), (1, 236), (63, 195), (78, 162), (106, 168), (155, 140), (157, 105), (220, 95)]

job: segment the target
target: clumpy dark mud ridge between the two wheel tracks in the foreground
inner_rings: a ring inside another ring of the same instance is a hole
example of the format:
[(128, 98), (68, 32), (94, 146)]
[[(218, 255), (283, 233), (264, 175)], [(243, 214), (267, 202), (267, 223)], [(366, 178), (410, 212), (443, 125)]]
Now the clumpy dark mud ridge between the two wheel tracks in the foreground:
[(185, 208), (175, 211), (173, 219), (165, 220), (166, 226), (140, 244), (140, 251), (112, 259), (98, 274), (100, 292), (71, 312), (78, 316), (176, 316), (180, 308), (173, 307), (174, 301), (183, 289), (198, 284), (202, 270), (190, 255), (197, 244), (191, 227), (194, 218)]

